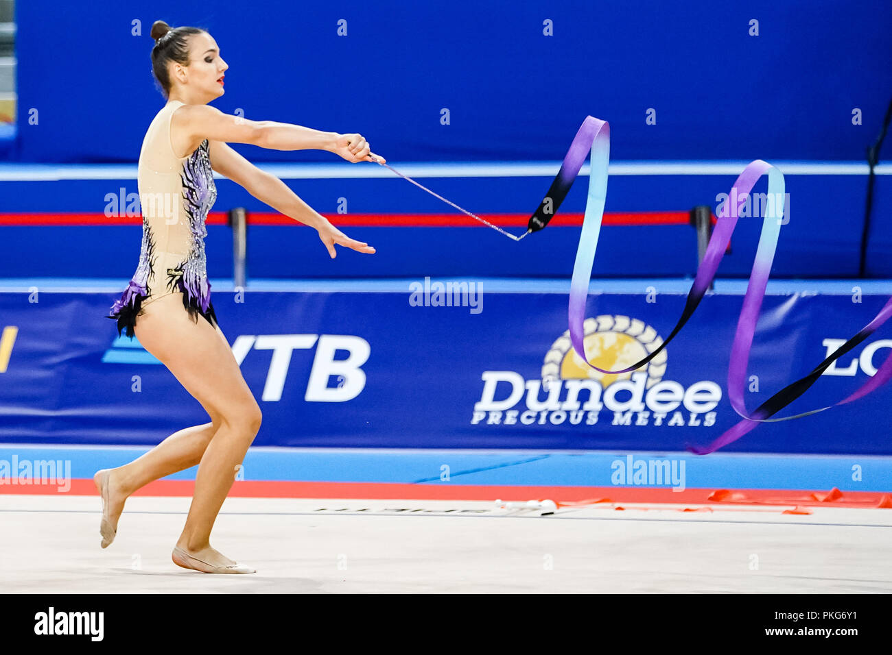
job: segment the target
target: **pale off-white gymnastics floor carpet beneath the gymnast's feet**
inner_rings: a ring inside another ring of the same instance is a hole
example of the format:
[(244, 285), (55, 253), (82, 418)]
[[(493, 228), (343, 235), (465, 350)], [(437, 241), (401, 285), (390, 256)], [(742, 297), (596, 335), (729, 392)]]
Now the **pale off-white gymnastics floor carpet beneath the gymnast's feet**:
[(0, 592), (892, 592), (892, 510), (228, 498), (211, 543), (258, 572), (214, 576), (170, 561), (189, 503), (129, 499), (102, 550), (98, 496), (0, 495)]

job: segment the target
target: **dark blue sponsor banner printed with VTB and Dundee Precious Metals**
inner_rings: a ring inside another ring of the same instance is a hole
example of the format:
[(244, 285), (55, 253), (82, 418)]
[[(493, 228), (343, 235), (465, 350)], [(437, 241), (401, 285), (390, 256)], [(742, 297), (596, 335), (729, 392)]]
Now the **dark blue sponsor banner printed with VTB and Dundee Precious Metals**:
[[(214, 291), (220, 325), (263, 412), (257, 446), (678, 451), (739, 420), (726, 394), (741, 298), (711, 294), (641, 371), (601, 375), (567, 334), (563, 293), (489, 291), (482, 281), (404, 291)], [(155, 444), (208, 422), (167, 368), (119, 338), (96, 292), (0, 293), (0, 441)], [(808, 373), (885, 301), (769, 295), (747, 370), (752, 410)], [(593, 294), (587, 347), (602, 368), (656, 348), (684, 295)], [(875, 373), (881, 331), (783, 414), (828, 405)], [(886, 335), (884, 337), (884, 335)], [(665, 356), (664, 356), (665, 355)], [(764, 424), (726, 451), (892, 454), (892, 389), (793, 422)]]

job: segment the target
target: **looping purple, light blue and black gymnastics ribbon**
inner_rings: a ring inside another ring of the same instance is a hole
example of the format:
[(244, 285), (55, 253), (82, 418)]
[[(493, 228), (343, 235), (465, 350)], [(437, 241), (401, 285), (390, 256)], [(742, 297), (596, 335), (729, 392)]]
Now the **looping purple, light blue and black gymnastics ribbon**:
[(778, 391), (762, 405), (756, 407), (753, 413), (747, 412), (743, 395), (746, 387), (747, 364), (749, 363), (750, 348), (756, 333), (759, 310), (762, 307), (778, 238), (780, 237), (780, 225), (783, 223), (785, 201), (783, 175), (780, 173), (780, 170), (763, 160), (753, 161), (743, 169), (743, 172), (731, 187), (728, 200), (719, 209), (712, 237), (709, 240), (703, 261), (700, 263), (697, 275), (691, 285), (685, 307), (681, 312), (678, 323), (676, 323), (672, 332), (669, 333), (669, 336), (648, 356), (622, 370), (608, 371), (591, 364), (588, 356), (585, 354), (583, 323), (589, 284), (591, 282), (591, 267), (594, 264), (595, 252), (598, 249), (600, 228), (604, 217), (604, 204), (607, 198), (610, 127), (606, 121), (588, 116), (582, 122), (582, 126), (576, 133), (573, 143), (570, 144), (570, 149), (566, 153), (561, 168), (558, 170), (558, 176), (555, 177), (549, 187), (549, 192), (541, 201), (539, 208), (530, 217), (528, 232), (536, 232), (548, 225), (549, 220), (557, 213), (558, 207), (566, 198), (567, 192), (570, 191), (570, 187), (582, 168), (586, 154), (590, 151), (589, 192), (582, 219), (582, 233), (580, 234), (579, 246), (576, 250), (573, 277), (570, 282), (568, 319), (570, 340), (576, 354), (591, 368), (601, 373), (629, 373), (644, 364), (648, 364), (681, 331), (681, 328), (688, 322), (690, 316), (694, 314), (700, 300), (706, 295), (710, 283), (714, 280), (718, 266), (727, 250), (728, 243), (731, 241), (731, 234), (737, 225), (740, 204), (747, 201), (749, 193), (759, 178), (766, 174), (768, 175), (768, 194), (767, 202), (765, 203), (766, 210), (762, 223), (762, 233), (759, 236), (756, 258), (753, 262), (749, 282), (747, 283), (747, 292), (743, 299), (737, 331), (731, 345), (731, 363), (728, 369), (728, 397), (731, 407), (743, 417), (743, 420), (731, 427), (731, 429), (726, 430), (722, 436), (716, 438), (708, 446), (689, 446), (691, 452), (696, 454), (712, 453), (743, 437), (750, 430), (754, 430), (760, 422), (789, 421), (809, 414), (823, 412), (836, 405), (850, 403), (866, 396), (892, 378), (892, 354), (890, 354), (869, 381), (866, 381), (854, 393), (838, 403), (809, 412), (798, 413), (794, 416), (771, 418), (775, 413), (778, 413), (781, 409), (802, 396), (821, 377), (830, 364), (870, 337), (880, 325), (892, 316), (892, 299), (889, 299), (886, 306), (880, 310), (880, 313), (870, 323), (867, 323), (852, 339), (847, 340), (845, 344), (824, 359), (821, 364), (818, 364), (811, 373)]

